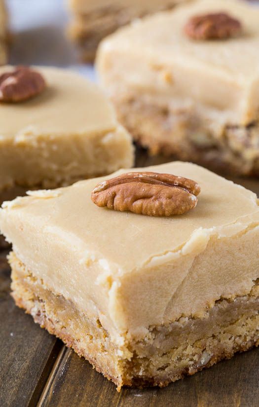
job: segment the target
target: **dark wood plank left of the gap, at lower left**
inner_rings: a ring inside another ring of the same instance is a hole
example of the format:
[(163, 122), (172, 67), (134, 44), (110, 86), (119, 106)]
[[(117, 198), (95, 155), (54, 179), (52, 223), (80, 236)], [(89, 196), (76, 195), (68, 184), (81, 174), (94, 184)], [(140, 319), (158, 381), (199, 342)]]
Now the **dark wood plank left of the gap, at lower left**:
[(0, 252), (0, 406), (36, 406), (62, 343), (39, 328), (10, 296), (10, 269)]

